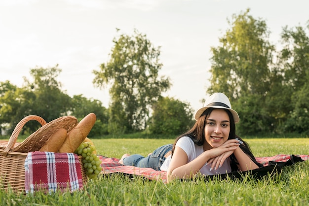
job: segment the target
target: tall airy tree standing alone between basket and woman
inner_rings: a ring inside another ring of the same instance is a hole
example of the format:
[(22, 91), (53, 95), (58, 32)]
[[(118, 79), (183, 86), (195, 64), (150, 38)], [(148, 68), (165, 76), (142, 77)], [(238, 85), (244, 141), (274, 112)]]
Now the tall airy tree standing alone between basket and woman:
[(158, 75), (160, 47), (137, 30), (113, 42), (109, 62), (93, 71), (95, 86), (111, 87), (110, 132), (145, 129), (150, 106), (170, 87), (169, 79)]

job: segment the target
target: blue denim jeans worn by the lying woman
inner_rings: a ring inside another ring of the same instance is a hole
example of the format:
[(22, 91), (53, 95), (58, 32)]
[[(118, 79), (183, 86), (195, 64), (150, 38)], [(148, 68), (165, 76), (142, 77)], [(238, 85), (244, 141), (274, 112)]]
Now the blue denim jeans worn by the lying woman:
[(131, 155), (123, 159), (123, 165), (139, 168), (152, 168), (156, 171), (160, 171), (160, 167), (166, 159), (164, 155), (169, 151), (172, 151), (172, 148), (173, 144), (166, 144), (155, 149), (154, 152), (147, 157), (139, 154)]

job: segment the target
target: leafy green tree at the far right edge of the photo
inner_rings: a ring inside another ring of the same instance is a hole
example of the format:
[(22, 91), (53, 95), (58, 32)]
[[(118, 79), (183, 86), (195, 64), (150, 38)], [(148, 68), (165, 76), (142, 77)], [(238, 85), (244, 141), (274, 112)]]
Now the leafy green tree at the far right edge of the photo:
[(280, 53), (284, 86), (290, 88), (285, 94), (289, 99), (286, 110), (285, 130), (309, 134), (309, 22), (306, 28), (283, 28)]

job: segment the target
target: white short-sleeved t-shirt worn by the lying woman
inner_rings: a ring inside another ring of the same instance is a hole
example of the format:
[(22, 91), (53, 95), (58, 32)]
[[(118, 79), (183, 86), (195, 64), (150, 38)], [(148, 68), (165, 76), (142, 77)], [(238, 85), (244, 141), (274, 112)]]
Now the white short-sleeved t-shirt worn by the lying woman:
[[(186, 154), (188, 155), (188, 163), (191, 162), (192, 160), (194, 160), (197, 156), (199, 156), (200, 154), (202, 154), (204, 152), (203, 146), (198, 146), (198, 145), (194, 144), (193, 140), (190, 137), (181, 137), (177, 141), (176, 146), (182, 148), (186, 152)], [(170, 164), (170, 161), (171, 161), (171, 158), (172, 158), (172, 155), (169, 155), (165, 159), (164, 163), (160, 167), (161, 171), (167, 171), (169, 164)], [(230, 159), (230, 157), (228, 157), (224, 161), (221, 168), (218, 168), (217, 170), (213, 169), (212, 171), (209, 171), (210, 168), (211, 168), (211, 164), (203, 166), (200, 169), (200, 172), (204, 175), (224, 174), (224, 173), (232, 172), (231, 159)]]

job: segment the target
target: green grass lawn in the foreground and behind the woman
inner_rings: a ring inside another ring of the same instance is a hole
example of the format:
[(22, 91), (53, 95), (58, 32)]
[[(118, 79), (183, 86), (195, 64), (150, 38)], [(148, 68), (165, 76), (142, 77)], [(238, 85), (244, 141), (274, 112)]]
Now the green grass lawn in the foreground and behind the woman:
[[(105, 138), (92, 139), (99, 154), (120, 158), (123, 153), (147, 155), (157, 146), (173, 143), (173, 139)], [(309, 154), (309, 138), (245, 139), (255, 156), (276, 154)], [(306, 206), (309, 205), (309, 161), (283, 169), (277, 176), (261, 180), (250, 175), (243, 180), (148, 181), (139, 176), (114, 174), (89, 180), (82, 191), (46, 195), (17, 195), (0, 190), (0, 205), (55, 206)]]

